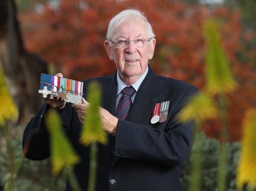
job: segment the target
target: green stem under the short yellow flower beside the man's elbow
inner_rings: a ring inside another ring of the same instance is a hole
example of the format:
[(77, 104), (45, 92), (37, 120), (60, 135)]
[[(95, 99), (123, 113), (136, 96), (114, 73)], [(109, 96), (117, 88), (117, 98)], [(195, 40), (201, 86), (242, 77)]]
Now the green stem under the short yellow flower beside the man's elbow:
[(192, 171), (191, 171), (190, 191), (201, 190), (202, 147), (204, 142), (203, 138), (204, 138), (204, 135), (201, 130), (201, 124), (197, 123), (197, 133), (195, 136), (193, 151), (191, 153)]

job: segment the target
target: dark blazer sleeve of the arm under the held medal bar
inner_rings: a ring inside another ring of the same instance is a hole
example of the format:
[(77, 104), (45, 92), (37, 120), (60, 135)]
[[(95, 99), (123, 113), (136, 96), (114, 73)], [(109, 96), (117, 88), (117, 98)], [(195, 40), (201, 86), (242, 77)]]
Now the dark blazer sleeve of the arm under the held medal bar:
[[(24, 130), (22, 151), (28, 159), (43, 160), (50, 156), (50, 139), (44, 122), (49, 108), (48, 104), (43, 104)], [(65, 107), (58, 112), (63, 122), (63, 130), (67, 132), (72, 118), (70, 103), (66, 103)]]

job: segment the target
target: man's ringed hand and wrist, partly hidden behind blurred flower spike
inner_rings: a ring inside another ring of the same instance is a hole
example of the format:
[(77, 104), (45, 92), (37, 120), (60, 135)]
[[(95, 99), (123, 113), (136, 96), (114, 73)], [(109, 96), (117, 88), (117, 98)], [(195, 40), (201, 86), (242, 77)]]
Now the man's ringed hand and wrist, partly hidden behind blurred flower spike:
[[(76, 112), (78, 114), (78, 119), (82, 124), (84, 123), (84, 120), (86, 118), (88, 106), (89, 106), (89, 103), (84, 98), (82, 98), (82, 104), (72, 104), (72, 107), (76, 109)], [(100, 116), (101, 116), (103, 129), (110, 135), (115, 136), (118, 119), (115, 116), (111, 115), (106, 109), (103, 109), (102, 107), (100, 107)]]

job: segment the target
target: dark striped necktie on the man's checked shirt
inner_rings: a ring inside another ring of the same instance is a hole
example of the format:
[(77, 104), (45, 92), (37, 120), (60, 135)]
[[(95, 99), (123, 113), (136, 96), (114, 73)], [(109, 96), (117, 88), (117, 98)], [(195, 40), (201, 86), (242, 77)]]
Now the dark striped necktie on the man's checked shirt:
[(132, 95), (135, 89), (132, 86), (125, 87), (121, 92), (122, 96), (117, 104), (117, 109), (115, 110), (115, 116), (119, 119), (126, 119), (129, 114), (129, 109), (132, 107)]

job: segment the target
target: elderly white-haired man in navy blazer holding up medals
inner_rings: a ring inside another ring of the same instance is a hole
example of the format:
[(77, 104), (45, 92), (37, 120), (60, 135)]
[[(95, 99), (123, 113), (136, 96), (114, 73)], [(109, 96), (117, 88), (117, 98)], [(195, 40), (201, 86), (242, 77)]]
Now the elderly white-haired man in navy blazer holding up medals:
[[(100, 109), (107, 146), (99, 144), (97, 191), (181, 191), (180, 167), (193, 145), (193, 122), (181, 124), (176, 116), (196, 87), (156, 75), (148, 61), (153, 57), (155, 35), (147, 18), (127, 9), (112, 18), (106, 51), (115, 62), (113, 75), (84, 80), (84, 92), (92, 80), (103, 87)], [(62, 76), (60, 73), (59, 76)], [(86, 95), (85, 95), (86, 99)], [(63, 128), (82, 162), (74, 167), (78, 182), (87, 190), (89, 148), (79, 142), (81, 123), (88, 103), (66, 103), (46, 98), (46, 103), (24, 131), (25, 156), (49, 157), (49, 138), (42, 120), (49, 107), (59, 110)], [(67, 190), (71, 190), (67, 183)]]

